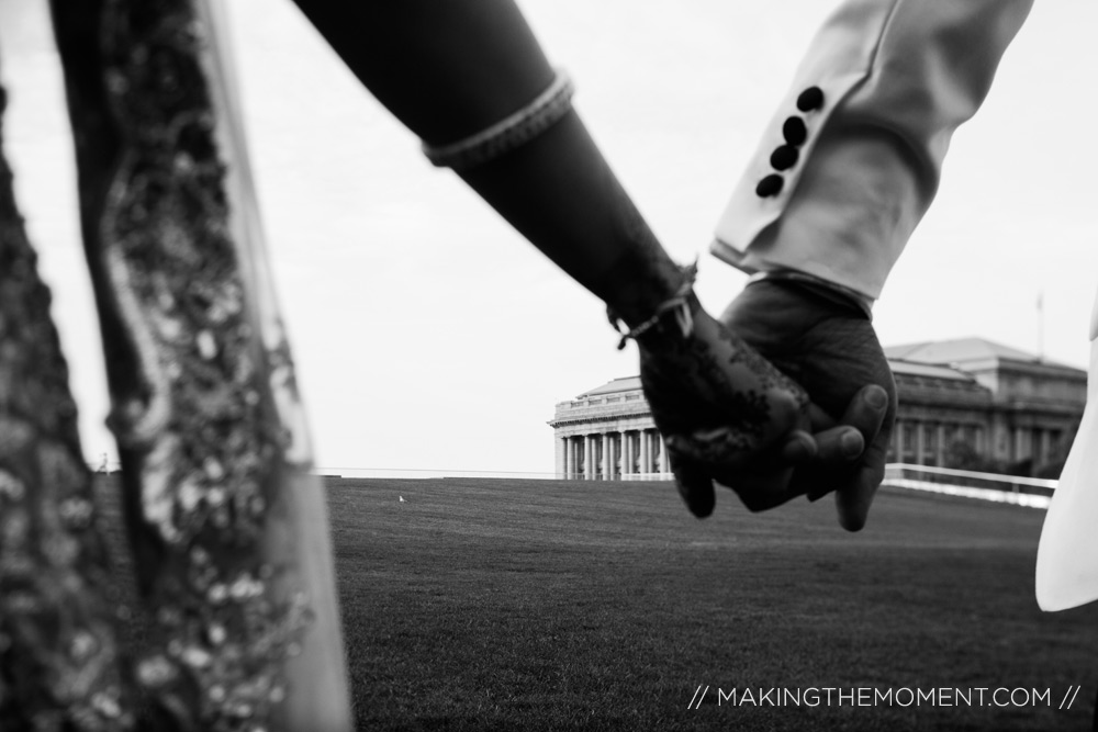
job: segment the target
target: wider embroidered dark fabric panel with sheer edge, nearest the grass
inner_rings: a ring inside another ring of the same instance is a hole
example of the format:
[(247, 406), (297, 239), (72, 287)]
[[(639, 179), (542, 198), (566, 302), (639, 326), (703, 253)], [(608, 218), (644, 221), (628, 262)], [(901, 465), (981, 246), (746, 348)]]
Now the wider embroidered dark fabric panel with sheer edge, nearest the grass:
[(109, 424), (154, 610), (133, 678), (158, 729), (278, 729), (313, 610), (266, 534), (310, 455), (269, 282), (226, 187), (239, 161), (219, 136), (209, 24), (192, 0), (58, 1), (54, 22)]

